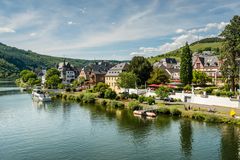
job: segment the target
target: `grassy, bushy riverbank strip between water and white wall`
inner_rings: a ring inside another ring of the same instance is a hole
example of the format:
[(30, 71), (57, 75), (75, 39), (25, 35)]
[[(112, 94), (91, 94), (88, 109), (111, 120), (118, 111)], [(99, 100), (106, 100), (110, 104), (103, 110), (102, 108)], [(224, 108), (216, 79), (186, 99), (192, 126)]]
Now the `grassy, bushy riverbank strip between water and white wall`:
[[(164, 103), (157, 102), (154, 105), (148, 105), (146, 103), (139, 103), (136, 100), (111, 100), (98, 98), (98, 93), (88, 92), (66, 92), (59, 93), (53, 97), (53, 99), (62, 99), (65, 101), (76, 101), (78, 103), (90, 103), (99, 104), (102, 106), (114, 107), (114, 108), (127, 108), (130, 110), (138, 109), (151, 109), (154, 106), (154, 112), (157, 115), (177, 116), (182, 118), (189, 118), (209, 123), (226, 123), (240, 125), (240, 119), (232, 118), (229, 113), (221, 112), (218, 108), (211, 110), (212, 108), (195, 107), (182, 103)], [(231, 109), (229, 109), (230, 111)]]

